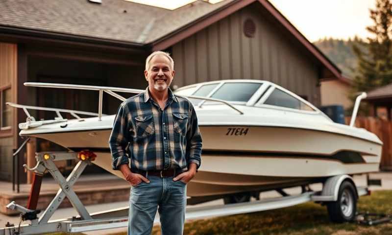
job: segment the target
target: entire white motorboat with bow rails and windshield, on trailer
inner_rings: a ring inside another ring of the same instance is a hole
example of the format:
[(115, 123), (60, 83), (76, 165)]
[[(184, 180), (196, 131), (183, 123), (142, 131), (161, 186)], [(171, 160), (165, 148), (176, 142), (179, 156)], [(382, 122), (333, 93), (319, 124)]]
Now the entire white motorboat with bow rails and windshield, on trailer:
[[(99, 91), (98, 114), (10, 105), (24, 108), (29, 117), (20, 124), (21, 136), (49, 140), (72, 151), (89, 149), (97, 154), (94, 164), (123, 178), (120, 171), (111, 168), (108, 139), (115, 116), (102, 115), (102, 93), (125, 100), (116, 92), (144, 90), (25, 85)], [(190, 197), (245, 195), (246, 198), (252, 192), (379, 169), (383, 143), (376, 135), (354, 127), (354, 120), (350, 126), (333, 122), (308, 101), (269, 81), (213, 81), (182, 87), (174, 93), (187, 96), (194, 103), (203, 138), (202, 164), (188, 184)], [(55, 111), (58, 118), (35, 121), (28, 109)], [(71, 113), (75, 119), (63, 119), (61, 112)], [(98, 117), (79, 118), (78, 114)]]

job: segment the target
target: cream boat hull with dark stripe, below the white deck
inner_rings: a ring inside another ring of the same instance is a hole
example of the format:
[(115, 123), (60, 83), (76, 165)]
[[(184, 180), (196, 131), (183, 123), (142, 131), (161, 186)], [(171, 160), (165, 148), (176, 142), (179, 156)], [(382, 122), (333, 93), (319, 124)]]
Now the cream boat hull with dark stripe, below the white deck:
[[(242, 129), (232, 131), (230, 129)], [(245, 130), (246, 134), (245, 133)], [(111, 129), (29, 134), (79, 151), (97, 154), (94, 164), (111, 167)], [(302, 185), (339, 174), (378, 171), (379, 143), (346, 135), (270, 126), (203, 126), (202, 164), (188, 196), (210, 196)], [(233, 133), (233, 134), (231, 134)], [(219, 140), (219, 141), (217, 141)], [(305, 144), (306, 143), (306, 144)], [(278, 150), (278, 151), (277, 151)]]

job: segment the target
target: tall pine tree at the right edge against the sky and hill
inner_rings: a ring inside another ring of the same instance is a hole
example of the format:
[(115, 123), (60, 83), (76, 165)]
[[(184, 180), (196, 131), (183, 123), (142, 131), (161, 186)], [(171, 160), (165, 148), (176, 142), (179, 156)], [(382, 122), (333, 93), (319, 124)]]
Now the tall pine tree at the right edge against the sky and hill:
[(353, 51), (357, 57), (356, 75), (353, 90), (354, 98), (358, 92), (367, 92), (392, 82), (392, 2), (376, 0), (376, 9), (370, 10), (374, 25), (366, 29), (373, 35), (368, 43), (354, 39)]

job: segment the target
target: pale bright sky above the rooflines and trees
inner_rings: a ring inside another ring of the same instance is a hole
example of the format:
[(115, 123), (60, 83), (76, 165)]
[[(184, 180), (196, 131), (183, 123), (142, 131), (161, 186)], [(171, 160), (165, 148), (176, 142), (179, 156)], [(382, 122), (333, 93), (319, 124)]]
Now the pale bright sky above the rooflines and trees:
[[(175, 9), (194, 0), (131, 0)], [(210, 0), (218, 2), (220, 0)], [(369, 8), (375, 0), (270, 0), (270, 2), (311, 42), (324, 37), (339, 39), (370, 36)]]

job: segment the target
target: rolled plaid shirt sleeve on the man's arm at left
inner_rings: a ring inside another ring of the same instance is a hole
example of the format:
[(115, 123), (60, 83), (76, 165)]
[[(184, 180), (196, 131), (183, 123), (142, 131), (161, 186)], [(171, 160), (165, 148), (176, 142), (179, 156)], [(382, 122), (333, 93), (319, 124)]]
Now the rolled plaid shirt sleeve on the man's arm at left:
[(129, 139), (129, 121), (126, 106), (122, 103), (114, 120), (112, 133), (109, 138), (112, 168), (114, 170), (120, 170), (120, 165), (122, 164), (129, 164), (129, 157), (126, 155)]

